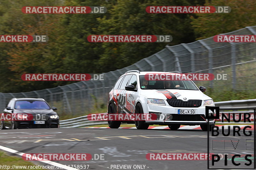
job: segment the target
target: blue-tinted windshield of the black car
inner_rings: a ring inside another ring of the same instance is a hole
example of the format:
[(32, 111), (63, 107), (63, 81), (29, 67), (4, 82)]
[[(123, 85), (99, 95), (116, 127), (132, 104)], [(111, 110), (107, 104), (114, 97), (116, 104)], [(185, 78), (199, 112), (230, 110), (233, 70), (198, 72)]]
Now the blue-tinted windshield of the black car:
[(16, 101), (15, 109), (50, 109), (45, 101)]

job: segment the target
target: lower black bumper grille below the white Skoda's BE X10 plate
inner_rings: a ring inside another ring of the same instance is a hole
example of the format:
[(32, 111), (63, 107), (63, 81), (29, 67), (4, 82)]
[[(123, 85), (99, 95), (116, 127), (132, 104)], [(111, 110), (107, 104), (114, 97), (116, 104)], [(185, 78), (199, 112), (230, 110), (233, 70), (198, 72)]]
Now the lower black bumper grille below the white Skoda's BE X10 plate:
[[(202, 117), (203, 116), (203, 117)], [(189, 115), (189, 114), (171, 114), (168, 121), (205, 121), (204, 115)]]

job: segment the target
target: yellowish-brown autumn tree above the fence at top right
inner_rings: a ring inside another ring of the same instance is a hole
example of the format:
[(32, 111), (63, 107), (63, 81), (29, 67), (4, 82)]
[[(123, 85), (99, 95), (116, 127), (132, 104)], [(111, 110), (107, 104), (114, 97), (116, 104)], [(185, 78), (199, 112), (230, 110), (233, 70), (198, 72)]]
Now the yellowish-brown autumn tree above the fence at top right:
[(207, 0), (205, 6), (229, 6), (230, 13), (196, 14), (191, 16), (197, 39), (235, 31), (256, 23), (255, 0)]

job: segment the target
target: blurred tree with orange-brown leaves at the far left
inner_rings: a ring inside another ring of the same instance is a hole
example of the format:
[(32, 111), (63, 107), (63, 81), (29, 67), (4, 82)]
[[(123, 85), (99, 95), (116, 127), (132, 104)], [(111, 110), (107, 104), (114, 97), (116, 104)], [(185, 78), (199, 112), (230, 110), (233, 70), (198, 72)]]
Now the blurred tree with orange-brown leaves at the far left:
[[(21, 12), (21, 8), (23, 6), (42, 5), (61, 6), (61, 3), (59, 0), (50, 3), (46, 0), (40, 2), (32, 0), (1, 2), (1, 35), (48, 35), (54, 41), (59, 31), (58, 27), (54, 28), (54, 22), (58, 21), (59, 17), (53, 14), (24, 14)], [(55, 33), (52, 33), (53, 30)], [(25, 92), (54, 87), (50, 82), (23, 82), (21, 80), (21, 75), (24, 73), (44, 73), (45, 70), (50, 69), (50, 67), (46, 68), (45, 66), (49, 61), (45, 57), (52, 53), (53, 41), (49, 41), (50, 43), (1, 42), (1, 92)], [(56, 57), (53, 56), (53, 58)]]

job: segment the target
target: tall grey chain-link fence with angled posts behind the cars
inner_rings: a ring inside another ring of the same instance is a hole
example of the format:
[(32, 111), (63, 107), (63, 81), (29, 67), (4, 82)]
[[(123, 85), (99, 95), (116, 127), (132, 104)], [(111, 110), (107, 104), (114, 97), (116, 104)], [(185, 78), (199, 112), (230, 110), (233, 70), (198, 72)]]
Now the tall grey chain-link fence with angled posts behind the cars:
[[(246, 27), (225, 35), (256, 35), (256, 26)], [(210, 87), (212, 92), (223, 90), (255, 91), (255, 43), (214, 42), (213, 37), (188, 44), (166, 46), (163, 50), (120, 70), (104, 74), (104, 81), (81, 81), (23, 93), (0, 93), (0, 109), (12, 98), (44, 98), (58, 107), (58, 114), (82, 115), (94, 108), (105, 107), (108, 92), (117, 78), (128, 70), (168, 71), (182, 73), (227, 74), (227, 80), (196, 81), (197, 85)]]

